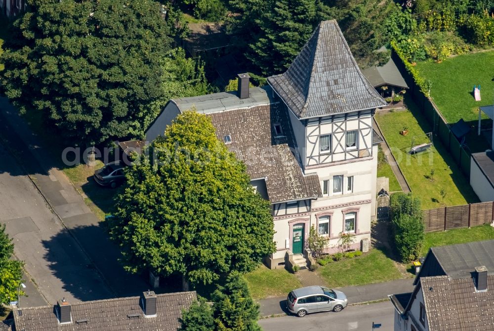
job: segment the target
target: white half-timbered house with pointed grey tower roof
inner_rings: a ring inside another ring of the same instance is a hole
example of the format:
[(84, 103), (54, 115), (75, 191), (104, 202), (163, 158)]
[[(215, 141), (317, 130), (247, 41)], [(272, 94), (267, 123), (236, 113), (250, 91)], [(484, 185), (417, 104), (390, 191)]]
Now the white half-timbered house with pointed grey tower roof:
[[(376, 108), (386, 102), (362, 75), (335, 21), (324, 21), (288, 70), (268, 86), (171, 99), (146, 132), (162, 135), (175, 116), (195, 108), (211, 117), (218, 139), (247, 164), (253, 187), (272, 204), (277, 268), (305, 254), (311, 226), (333, 251), (341, 233), (369, 249), (375, 214)], [(305, 262), (303, 262), (305, 264)]]

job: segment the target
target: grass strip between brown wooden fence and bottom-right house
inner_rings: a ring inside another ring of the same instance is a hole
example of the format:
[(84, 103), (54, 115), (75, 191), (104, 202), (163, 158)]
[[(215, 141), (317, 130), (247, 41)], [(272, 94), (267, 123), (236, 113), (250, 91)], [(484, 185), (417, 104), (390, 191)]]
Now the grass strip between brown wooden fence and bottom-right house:
[(430, 247), (453, 245), (470, 241), (494, 239), (494, 228), (489, 224), (474, 228), (453, 229), (425, 234), (421, 256), (425, 256)]

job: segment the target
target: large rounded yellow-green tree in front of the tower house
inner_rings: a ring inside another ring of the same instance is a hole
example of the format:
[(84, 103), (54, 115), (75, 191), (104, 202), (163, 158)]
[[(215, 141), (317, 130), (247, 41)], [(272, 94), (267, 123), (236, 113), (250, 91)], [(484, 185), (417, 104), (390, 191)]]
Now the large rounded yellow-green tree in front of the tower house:
[(216, 139), (209, 117), (180, 114), (127, 169), (111, 235), (131, 272), (212, 283), (253, 270), (275, 250), (269, 202), (244, 163)]

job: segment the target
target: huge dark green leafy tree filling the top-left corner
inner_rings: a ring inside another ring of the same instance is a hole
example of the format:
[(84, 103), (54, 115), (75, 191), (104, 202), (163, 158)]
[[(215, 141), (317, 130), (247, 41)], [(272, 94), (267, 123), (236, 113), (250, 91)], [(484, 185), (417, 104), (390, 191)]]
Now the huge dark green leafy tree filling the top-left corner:
[(152, 0), (30, 0), (1, 62), (1, 92), (65, 137), (142, 134), (163, 95), (168, 28)]

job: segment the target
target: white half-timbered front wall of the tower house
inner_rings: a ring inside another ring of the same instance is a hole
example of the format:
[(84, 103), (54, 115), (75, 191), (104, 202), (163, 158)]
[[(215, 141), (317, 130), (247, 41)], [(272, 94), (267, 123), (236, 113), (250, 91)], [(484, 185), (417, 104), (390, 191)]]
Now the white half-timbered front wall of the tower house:
[[(292, 250), (294, 225), (304, 225), (305, 240), (310, 227), (319, 229), (319, 220), (329, 220), (326, 251), (338, 250), (341, 233), (353, 235), (352, 249), (361, 249), (362, 240), (371, 238), (371, 219), (375, 215), (375, 188), (377, 174), (377, 146), (372, 146), (371, 110), (337, 116), (299, 121), (290, 113), (297, 143), (302, 139), (300, 124), (305, 123), (305, 174), (317, 174), (323, 197), (313, 200), (273, 204), (277, 252), (271, 255), (270, 267), (283, 266), (287, 251)], [(298, 123), (297, 123), (298, 122)], [(345, 135), (358, 132), (356, 146), (347, 148)], [(331, 135), (330, 150), (321, 151), (320, 137)], [(300, 148), (299, 148), (300, 150)], [(341, 185), (335, 185), (336, 183)], [(351, 183), (351, 185), (349, 185)], [(296, 206), (296, 207), (295, 207)], [(345, 229), (345, 218), (351, 223), (356, 217), (353, 231)]]

